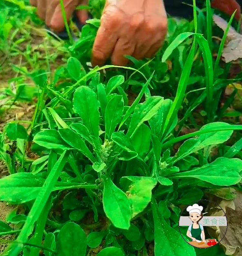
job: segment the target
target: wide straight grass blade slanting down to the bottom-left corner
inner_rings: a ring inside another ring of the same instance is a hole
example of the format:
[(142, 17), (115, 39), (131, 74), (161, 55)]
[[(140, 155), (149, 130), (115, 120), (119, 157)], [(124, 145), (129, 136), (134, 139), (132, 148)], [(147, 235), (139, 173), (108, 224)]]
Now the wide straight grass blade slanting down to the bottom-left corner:
[(42, 190), (38, 194), (33, 206), (29, 212), (26, 222), (16, 239), (16, 243), (12, 243), (7, 250), (2, 254), (3, 256), (18, 256), (23, 249), (23, 244), (27, 243), (28, 236), (31, 234), (33, 225), (40, 217), (40, 213), (44, 209), (44, 206), (51, 195), (51, 191), (56, 184), (56, 181), (67, 162), (69, 152), (66, 150), (62, 153), (56, 164), (53, 166), (47, 179), (44, 182)]

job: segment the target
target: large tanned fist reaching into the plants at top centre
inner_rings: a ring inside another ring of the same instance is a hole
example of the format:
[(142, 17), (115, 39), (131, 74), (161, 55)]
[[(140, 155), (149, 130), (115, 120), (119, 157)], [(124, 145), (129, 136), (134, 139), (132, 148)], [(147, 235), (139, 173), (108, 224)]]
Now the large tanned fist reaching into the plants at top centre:
[(106, 0), (92, 51), (93, 66), (111, 57), (113, 65), (127, 65), (124, 55), (151, 58), (167, 33), (162, 0)]

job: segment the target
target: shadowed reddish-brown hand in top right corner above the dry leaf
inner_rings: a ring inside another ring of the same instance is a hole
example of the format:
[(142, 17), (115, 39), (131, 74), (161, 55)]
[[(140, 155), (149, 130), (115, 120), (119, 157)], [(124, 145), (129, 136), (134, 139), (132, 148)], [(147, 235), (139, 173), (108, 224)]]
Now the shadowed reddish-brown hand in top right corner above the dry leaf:
[(211, 2), (211, 7), (216, 8), (228, 15), (232, 15), (235, 10), (235, 19), (240, 20), (241, 7), (236, 0), (213, 0)]

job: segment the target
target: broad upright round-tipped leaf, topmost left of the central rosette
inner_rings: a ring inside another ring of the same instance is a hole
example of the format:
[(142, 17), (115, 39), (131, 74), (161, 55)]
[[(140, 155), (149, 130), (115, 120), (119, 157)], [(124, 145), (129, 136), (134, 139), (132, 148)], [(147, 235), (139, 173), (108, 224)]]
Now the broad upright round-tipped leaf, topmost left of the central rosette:
[(98, 109), (100, 103), (95, 92), (87, 86), (80, 86), (75, 90), (73, 106), (91, 135), (98, 137), (100, 119)]

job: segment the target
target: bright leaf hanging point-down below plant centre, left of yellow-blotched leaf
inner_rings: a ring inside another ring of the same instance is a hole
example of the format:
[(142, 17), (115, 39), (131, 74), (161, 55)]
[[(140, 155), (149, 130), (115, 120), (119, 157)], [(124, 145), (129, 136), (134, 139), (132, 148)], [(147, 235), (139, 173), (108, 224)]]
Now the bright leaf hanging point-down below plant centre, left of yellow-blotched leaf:
[(131, 205), (127, 195), (110, 178), (104, 180), (103, 208), (115, 227), (129, 229)]

